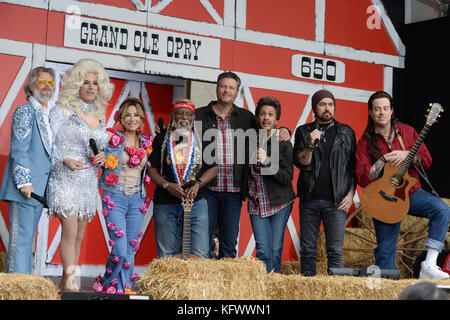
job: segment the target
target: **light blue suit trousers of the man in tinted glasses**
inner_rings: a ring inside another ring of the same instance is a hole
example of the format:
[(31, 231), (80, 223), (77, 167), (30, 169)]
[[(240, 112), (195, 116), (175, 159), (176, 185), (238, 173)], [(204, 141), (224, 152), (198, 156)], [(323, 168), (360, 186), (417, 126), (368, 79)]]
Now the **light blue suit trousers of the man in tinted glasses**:
[(9, 243), (6, 272), (30, 274), (33, 241), (43, 205), (30, 206), (11, 201), (9, 207)]

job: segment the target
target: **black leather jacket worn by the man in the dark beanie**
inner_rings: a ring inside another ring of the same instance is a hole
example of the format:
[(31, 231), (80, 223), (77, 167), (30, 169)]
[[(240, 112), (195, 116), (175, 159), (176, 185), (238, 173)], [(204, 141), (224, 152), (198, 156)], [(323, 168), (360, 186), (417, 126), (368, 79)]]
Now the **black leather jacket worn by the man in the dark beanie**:
[[(337, 207), (350, 191), (350, 188), (355, 186), (356, 137), (351, 127), (334, 121), (337, 132), (330, 153), (330, 169), (334, 203)], [(320, 152), (318, 150), (313, 150), (309, 165), (302, 165), (298, 160), (298, 155), (308, 146), (309, 133), (314, 129), (315, 124), (312, 122), (298, 127), (295, 131), (294, 164), (300, 169), (297, 180), (297, 196), (300, 201), (310, 200), (319, 174)]]

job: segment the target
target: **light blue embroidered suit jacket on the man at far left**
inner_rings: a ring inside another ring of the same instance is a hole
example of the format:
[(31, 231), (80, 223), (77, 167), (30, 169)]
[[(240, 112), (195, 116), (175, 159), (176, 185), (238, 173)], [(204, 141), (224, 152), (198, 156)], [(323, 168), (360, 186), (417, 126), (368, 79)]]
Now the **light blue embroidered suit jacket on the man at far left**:
[(28, 103), (19, 106), (11, 124), (11, 151), (3, 174), (0, 199), (37, 206), (26, 199), (18, 186), (31, 183), (34, 192), (44, 195), (52, 161), (52, 141), (48, 136), (41, 106)]

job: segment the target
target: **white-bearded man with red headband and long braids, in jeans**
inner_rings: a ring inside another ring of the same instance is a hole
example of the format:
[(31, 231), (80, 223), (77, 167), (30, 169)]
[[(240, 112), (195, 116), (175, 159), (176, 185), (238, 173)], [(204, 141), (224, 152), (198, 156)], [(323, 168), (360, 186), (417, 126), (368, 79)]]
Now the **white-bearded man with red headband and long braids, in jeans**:
[(217, 175), (217, 166), (203, 161), (207, 142), (202, 142), (194, 126), (194, 104), (175, 102), (170, 117), (167, 129), (155, 137), (150, 155), (150, 178), (156, 185), (153, 216), (158, 258), (180, 253), (183, 198), (194, 200), (190, 253), (208, 258), (208, 205), (203, 191)]

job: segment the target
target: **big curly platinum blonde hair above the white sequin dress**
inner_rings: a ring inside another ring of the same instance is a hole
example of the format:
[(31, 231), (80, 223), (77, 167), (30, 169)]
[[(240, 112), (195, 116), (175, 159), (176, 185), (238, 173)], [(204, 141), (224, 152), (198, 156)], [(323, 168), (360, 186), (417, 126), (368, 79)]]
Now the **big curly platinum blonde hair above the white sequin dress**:
[(99, 118), (105, 115), (106, 104), (111, 99), (114, 85), (109, 81), (105, 68), (96, 60), (81, 59), (73, 68), (64, 75), (63, 87), (56, 102), (61, 108), (76, 111), (80, 88), (86, 78), (86, 74), (92, 72), (97, 75), (98, 92), (94, 105)]

